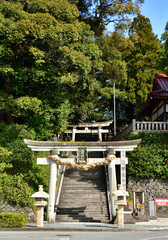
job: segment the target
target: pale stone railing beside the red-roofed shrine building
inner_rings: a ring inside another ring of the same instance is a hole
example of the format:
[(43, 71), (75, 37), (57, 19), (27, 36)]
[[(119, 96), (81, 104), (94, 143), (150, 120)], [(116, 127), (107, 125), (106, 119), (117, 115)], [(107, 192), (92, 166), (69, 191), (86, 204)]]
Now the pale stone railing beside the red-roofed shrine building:
[(132, 121), (133, 132), (165, 132), (168, 131), (168, 122)]

